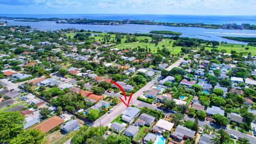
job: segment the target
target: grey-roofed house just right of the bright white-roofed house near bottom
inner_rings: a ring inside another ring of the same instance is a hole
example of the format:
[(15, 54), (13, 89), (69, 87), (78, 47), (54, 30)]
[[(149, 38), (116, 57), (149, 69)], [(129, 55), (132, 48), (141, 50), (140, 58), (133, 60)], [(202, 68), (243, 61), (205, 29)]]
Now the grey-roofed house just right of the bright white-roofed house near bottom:
[(173, 132), (173, 137), (182, 140), (182, 139), (193, 139), (195, 137), (196, 131), (190, 130), (187, 127), (178, 125)]

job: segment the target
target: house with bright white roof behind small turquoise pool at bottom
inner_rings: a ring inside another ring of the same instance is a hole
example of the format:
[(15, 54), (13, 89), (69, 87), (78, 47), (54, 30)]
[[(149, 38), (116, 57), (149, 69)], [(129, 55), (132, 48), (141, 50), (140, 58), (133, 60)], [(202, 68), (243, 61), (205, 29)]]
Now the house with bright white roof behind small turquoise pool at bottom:
[(164, 119), (159, 119), (159, 121), (153, 126), (153, 131), (162, 133), (164, 131), (171, 131), (173, 123), (165, 121)]

